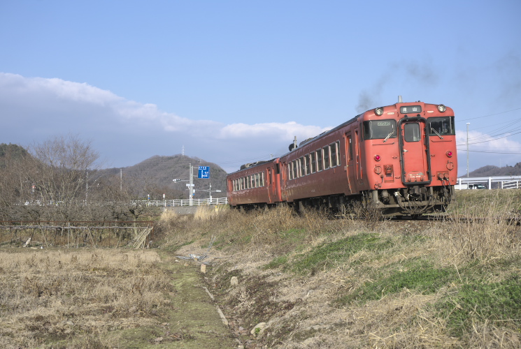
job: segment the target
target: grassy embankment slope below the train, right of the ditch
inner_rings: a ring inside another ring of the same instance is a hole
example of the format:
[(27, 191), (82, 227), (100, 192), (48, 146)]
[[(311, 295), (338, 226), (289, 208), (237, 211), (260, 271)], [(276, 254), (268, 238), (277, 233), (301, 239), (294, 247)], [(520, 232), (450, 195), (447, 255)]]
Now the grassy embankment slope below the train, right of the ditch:
[[(493, 347), (521, 343), (518, 191), (459, 193), (469, 221), (351, 221), (286, 209), (164, 219), (166, 245), (221, 260), (209, 288), (246, 346)], [(188, 244), (186, 246), (186, 244)], [(177, 246), (177, 247), (176, 247)], [(237, 276), (239, 284), (229, 281)], [(268, 327), (252, 336), (258, 322)]]

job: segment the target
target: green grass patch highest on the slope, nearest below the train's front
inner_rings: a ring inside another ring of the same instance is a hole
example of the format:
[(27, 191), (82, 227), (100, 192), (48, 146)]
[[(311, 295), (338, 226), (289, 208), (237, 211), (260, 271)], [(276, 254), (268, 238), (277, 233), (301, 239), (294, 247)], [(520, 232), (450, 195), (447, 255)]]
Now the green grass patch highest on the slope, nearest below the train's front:
[(366, 251), (382, 251), (394, 245), (392, 239), (381, 239), (378, 234), (361, 233), (345, 239), (324, 244), (314, 248), (306, 255), (297, 256), (292, 271), (297, 274), (315, 274), (315, 272), (348, 260), (355, 253)]

